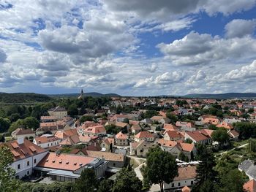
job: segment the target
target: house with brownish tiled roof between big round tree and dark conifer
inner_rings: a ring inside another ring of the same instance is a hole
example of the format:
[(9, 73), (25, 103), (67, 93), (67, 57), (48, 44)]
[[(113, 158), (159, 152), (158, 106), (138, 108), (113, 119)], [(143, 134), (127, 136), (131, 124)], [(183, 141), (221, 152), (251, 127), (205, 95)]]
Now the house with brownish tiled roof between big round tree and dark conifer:
[(185, 186), (192, 188), (195, 184), (196, 175), (196, 166), (179, 167), (178, 177), (175, 177), (172, 183), (164, 183), (164, 189), (167, 191), (181, 191)]

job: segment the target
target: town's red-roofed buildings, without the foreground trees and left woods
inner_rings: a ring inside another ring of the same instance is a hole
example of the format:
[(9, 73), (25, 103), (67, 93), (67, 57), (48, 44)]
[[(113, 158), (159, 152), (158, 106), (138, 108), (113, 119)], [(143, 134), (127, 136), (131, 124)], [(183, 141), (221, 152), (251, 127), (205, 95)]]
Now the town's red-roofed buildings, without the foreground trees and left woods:
[[(72, 101), (84, 104), (88, 99), (82, 91)], [(118, 173), (130, 166), (144, 183), (148, 153), (158, 148), (173, 156), (178, 167), (169, 183), (160, 184), (161, 190), (192, 191), (204, 147), (218, 159), (247, 145), (256, 152), (248, 130), (256, 125), (254, 99), (113, 97), (97, 110), (85, 108), (82, 115), (79, 107), (74, 114), (63, 106), (48, 109), (36, 128), (18, 126), (0, 144), (12, 154), (10, 167), (16, 180), (76, 183), (84, 169), (92, 169), (96, 180), (115, 182)], [(236, 146), (239, 143), (243, 145)], [(250, 192), (256, 184), (252, 156), (241, 158), (235, 168), (244, 172), (244, 190)], [(144, 191), (160, 191), (160, 185), (148, 185)]]

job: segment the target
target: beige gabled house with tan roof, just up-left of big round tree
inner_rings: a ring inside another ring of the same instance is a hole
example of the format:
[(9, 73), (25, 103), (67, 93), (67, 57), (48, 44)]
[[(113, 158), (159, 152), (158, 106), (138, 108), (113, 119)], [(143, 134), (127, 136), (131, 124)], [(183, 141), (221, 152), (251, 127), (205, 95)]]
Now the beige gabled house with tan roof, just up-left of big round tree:
[(148, 153), (148, 150), (154, 147), (157, 147), (156, 143), (147, 142), (145, 140), (141, 140), (140, 142), (131, 142), (130, 155), (146, 158), (146, 153)]

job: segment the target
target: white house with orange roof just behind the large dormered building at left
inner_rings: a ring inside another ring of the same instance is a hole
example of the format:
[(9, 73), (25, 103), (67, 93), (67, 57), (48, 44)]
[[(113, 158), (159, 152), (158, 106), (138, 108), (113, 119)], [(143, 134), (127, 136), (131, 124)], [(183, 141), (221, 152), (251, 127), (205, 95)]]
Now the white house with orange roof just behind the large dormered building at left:
[(45, 134), (41, 137), (36, 137), (33, 141), (35, 145), (38, 145), (42, 148), (49, 148), (49, 147), (56, 147), (59, 146), (59, 143), (61, 142), (61, 139), (58, 137), (55, 137), (52, 134)]

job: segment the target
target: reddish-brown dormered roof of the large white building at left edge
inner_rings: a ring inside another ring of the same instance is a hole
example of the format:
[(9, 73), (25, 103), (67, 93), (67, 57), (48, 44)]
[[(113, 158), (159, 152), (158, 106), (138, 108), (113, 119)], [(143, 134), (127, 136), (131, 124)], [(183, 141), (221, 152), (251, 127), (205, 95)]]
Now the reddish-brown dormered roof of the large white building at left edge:
[(0, 147), (3, 147), (4, 145), (10, 148), (13, 154), (14, 161), (18, 161), (23, 158), (28, 158), (32, 155), (46, 152), (45, 149), (35, 145), (27, 139), (24, 139), (23, 144), (18, 144), (17, 140), (0, 143)]

